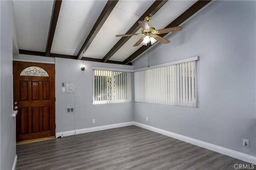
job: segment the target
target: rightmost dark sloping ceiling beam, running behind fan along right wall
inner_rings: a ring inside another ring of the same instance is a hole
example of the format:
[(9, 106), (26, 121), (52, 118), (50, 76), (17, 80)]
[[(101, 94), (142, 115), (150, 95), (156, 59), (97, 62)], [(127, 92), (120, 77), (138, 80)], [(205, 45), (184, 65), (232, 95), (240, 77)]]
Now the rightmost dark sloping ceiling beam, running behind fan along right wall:
[[(190, 18), (192, 15), (194, 15), (196, 12), (198, 12), (198, 10), (200, 10), (201, 8), (206, 6), (209, 2), (211, 2), (211, 0), (199, 0), (199, 1), (197, 1), (190, 8), (188, 8), (188, 10), (183, 12), (180, 16), (178, 16), (174, 21), (172, 21), (165, 28), (176, 27), (176, 26), (180, 25), (181, 23), (186, 21), (188, 18)], [(164, 37), (167, 34), (168, 33), (160, 34), (158, 36)], [(151, 46), (152, 45), (150, 44), (149, 47), (151, 47)], [(143, 45), (137, 51), (135, 51), (132, 55), (130, 55), (127, 59), (125, 59), (123, 64), (130, 63), (132, 60), (134, 60), (135, 58), (137, 58), (139, 55), (141, 55), (142, 53), (144, 53), (147, 50), (148, 50), (148, 47)]]

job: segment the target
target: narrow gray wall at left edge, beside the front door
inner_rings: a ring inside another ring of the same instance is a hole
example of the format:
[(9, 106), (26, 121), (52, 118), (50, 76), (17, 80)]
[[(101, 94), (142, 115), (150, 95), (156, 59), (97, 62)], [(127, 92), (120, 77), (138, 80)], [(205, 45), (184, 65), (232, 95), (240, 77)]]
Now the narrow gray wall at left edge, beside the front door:
[(12, 39), (14, 16), (12, 1), (1, 0), (0, 6), (0, 169), (9, 170), (12, 169), (16, 155), (15, 117), (12, 117)]

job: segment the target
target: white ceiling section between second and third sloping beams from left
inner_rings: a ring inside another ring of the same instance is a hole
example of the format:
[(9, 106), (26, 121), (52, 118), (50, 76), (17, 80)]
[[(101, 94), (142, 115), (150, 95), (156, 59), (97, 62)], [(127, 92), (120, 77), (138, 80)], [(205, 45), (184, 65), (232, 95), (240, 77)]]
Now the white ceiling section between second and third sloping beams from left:
[[(102, 59), (154, 1), (118, 1), (84, 57)], [(127, 8), (126, 8), (127, 7)]]

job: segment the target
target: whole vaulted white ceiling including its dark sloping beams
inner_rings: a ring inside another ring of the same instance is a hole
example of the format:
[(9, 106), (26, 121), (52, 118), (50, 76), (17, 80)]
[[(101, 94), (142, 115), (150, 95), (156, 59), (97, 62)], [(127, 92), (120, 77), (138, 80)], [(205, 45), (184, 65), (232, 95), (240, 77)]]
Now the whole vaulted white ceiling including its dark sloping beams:
[[(151, 16), (156, 29), (182, 26), (210, 1), (14, 0), (20, 54), (131, 64), (157, 44), (133, 45), (143, 35), (138, 21)], [(182, 31), (176, 33), (182, 34)], [(160, 34), (170, 40), (170, 33)]]

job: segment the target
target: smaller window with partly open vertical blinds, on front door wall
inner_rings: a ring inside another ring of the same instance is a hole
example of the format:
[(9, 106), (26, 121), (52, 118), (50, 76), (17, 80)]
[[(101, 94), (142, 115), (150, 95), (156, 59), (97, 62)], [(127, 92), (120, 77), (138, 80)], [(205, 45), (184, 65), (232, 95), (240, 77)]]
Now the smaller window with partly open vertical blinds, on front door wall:
[(93, 104), (131, 102), (131, 72), (93, 70)]

